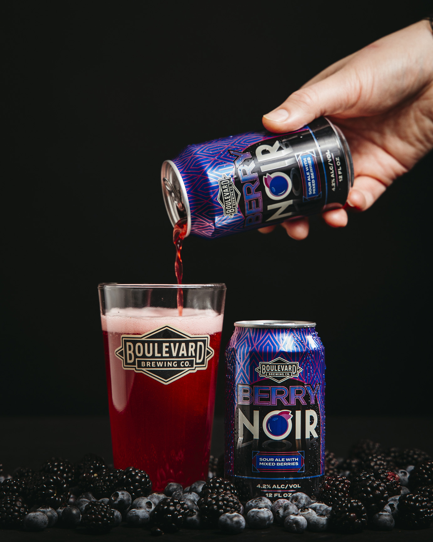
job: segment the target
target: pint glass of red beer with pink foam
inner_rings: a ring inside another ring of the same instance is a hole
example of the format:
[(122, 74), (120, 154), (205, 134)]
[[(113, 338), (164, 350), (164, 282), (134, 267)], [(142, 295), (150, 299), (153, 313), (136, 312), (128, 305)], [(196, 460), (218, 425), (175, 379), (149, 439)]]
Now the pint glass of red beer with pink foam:
[(99, 285), (114, 466), (146, 470), (154, 491), (207, 478), (225, 293)]

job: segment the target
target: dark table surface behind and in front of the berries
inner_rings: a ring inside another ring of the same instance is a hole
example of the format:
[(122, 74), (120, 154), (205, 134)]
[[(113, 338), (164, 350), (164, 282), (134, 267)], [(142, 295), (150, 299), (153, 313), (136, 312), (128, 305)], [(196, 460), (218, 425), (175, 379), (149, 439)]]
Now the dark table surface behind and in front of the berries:
[[(5, 472), (16, 467), (37, 469), (52, 456), (77, 461), (84, 454), (93, 451), (113, 461), (111, 454), (108, 416), (0, 416), (0, 463)], [(420, 448), (433, 455), (433, 418), (420, 417), (350, 417), (328, 416), (326, 418), (326, 446), (337, 456), (344, 457), (353, 442), (359, 438), (371, 438), (384, 447)], [(220, 455), (224, 451), (224, 421), (215, 418), (211, 453)], [(128, 540), (150, 537), (145, 529), (117, 527), (108, 534), (99, 535), (97, 540)], [(165, 534), (161, 540), (213, 540), (224, 538), (219, 531), (193, 531), (182, 529), (176, 534)], [(297, 535), (287, 533), (281, 527), (272, 526), (266, 530), (246, 528), (236, 540), (277, 540), (292, 539)], [(84, 538), (83, 538), (84, 537)], [(66, 531), (50, 528), (39, 533), (22, 531), (0, 531), (0, 540), (45, 541), (88, 539), (82, 529)], [(433, 540), (433, 530), (405, 531), (393, 529), (390, 532), (365, 530), (357, 535), (305, 532), (302, 540), (331, 542), (333, 540), (358, 540), (363, 542), (399, 542)]]

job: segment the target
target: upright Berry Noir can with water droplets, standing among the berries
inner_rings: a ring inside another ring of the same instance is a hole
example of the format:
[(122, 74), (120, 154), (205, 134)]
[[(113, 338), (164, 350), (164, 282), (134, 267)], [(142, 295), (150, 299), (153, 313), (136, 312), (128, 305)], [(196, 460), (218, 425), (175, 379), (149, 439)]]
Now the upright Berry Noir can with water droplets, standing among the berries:
[(325, 350), (316, 324), (234, 326), (226, 349), (225, 477), (242, 501), (311, 496), (325, 472)]

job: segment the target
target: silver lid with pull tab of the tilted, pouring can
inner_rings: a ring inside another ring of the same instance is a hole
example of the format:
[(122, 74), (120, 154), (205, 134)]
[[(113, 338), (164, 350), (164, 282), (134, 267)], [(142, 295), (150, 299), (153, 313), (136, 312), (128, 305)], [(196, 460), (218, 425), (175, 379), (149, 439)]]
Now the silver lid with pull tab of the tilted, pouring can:
[(187, 237), (191, 231), (191, 211), (189, 210), (188, 195), (182, 176), (172, 160), (166, 160), (162, 164), (161, 187), (172, 226), (174, 227), (181, 218), (186, 218), (188, 228), (185, 237)]

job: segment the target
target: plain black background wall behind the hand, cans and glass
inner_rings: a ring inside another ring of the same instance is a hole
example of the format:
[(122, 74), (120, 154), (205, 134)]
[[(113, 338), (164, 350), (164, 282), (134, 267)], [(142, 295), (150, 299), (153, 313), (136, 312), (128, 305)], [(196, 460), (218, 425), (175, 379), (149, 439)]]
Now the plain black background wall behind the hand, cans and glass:
[[(108, 411), (96, 287), (174, 282), (164, 159), (260, 128), (319, 70), (431, 9), (312, 4), (9, 2), (3, 414)], [(345, 229), (313, 218), (305, 241), (187, 238), (184, 282), (227, 284), (222, 344), (235, 320), (317, 321), (328, 414), (427, 415), (432, 167), (430, 153)]]

